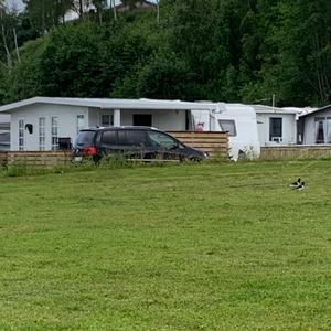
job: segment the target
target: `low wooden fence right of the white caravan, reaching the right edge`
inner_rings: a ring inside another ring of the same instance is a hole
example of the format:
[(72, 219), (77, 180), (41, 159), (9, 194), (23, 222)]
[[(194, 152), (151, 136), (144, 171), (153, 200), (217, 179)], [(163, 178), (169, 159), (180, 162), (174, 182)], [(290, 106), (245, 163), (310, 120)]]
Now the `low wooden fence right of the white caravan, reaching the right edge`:
[(285, 160), (285, 159), (319, 159), (331, 158), (331, 145), (293, 145), (261, 147), (260, 159)]

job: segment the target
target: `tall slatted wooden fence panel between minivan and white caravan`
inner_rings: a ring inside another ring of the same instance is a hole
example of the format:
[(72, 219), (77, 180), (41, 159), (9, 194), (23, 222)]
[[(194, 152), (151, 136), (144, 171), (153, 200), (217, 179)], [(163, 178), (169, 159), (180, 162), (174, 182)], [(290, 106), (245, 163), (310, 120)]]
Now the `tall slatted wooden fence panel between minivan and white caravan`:
[(206, 151), (212, 158), (228, 158), (228, 132), (171, 131), (183, 143)]

